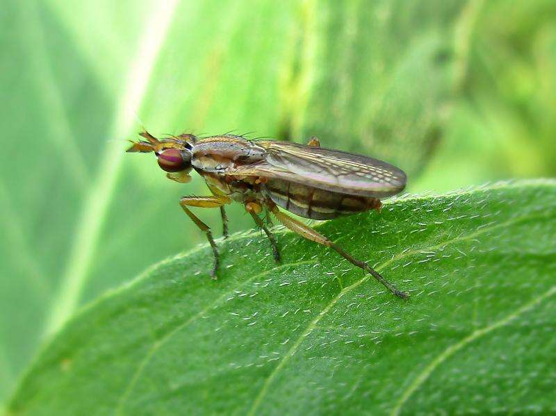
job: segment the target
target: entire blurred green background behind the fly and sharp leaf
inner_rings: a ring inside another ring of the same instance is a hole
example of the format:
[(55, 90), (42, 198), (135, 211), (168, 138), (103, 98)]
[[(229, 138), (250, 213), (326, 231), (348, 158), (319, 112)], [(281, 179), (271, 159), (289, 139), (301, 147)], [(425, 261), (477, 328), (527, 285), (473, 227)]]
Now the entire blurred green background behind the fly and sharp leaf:
[(2, 5), (0, 403), (80, 306), (204, 242), (177, 204), (204, 184), (124, 153), (142, 125), (317, 135), (409, 192), (556, 176), (553, 0)]

